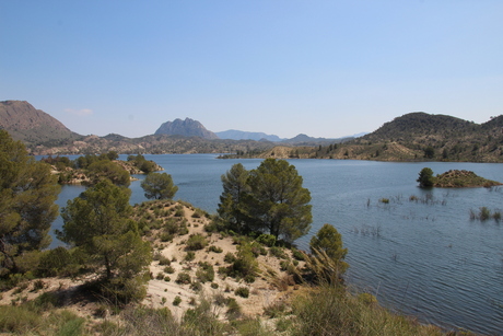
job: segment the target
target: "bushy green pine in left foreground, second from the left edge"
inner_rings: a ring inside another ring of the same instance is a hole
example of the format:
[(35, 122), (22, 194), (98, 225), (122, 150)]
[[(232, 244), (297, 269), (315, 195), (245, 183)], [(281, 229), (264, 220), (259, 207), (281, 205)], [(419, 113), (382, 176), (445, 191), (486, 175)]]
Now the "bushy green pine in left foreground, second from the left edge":
[(130, 194), (108, 179), (101, 181), (68, 201), (61, 213), (62, 232), (57, 232), (61, 241), (90, 258), (86, 266), (103, 269), (105, 288), (125, 301), (138, 299), (139, 275), (151, 259), (149, 243), (141, 240), (137, 223), (129, 218)]

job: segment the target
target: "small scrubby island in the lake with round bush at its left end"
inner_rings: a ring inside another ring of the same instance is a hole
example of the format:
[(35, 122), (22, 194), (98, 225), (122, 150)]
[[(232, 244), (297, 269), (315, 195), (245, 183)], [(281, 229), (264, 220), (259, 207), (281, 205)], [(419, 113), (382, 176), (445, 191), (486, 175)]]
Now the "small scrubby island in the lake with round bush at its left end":
[(503, 185), (500, 182), (480, 177), (476, 173), (465, 170), (451, 170), (435, 177), (433, 176), (433, 171), (429, 167), (421, 170), (417, 181), (420, 187), (440, 188), (492, 187)]

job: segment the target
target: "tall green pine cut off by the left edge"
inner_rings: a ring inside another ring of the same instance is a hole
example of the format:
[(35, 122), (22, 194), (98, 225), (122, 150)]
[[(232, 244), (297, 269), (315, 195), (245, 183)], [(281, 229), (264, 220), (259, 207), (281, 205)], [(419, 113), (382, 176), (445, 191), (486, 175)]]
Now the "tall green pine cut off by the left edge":
[(0, 276), (16, 271), (16, 257), (23, 253), (49, 245), (59, 192), (50, 166), (28, 157), (21, 141), (0, 130)]

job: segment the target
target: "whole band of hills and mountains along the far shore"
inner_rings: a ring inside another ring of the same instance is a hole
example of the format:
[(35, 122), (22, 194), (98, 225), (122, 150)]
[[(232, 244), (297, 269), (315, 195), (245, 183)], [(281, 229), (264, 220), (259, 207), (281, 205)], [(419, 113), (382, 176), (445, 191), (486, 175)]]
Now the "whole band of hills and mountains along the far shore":
[[(503, 116), (483, 124), (447, 115), (409, 113), (362, 137), (280, 139), (262, 132), (212, 132), (197, 120), (166, 121), (154, 135), (127, 138), (81, 136), (23, 101), (0, 102), (0, 129), (33, 154), (241, 153), (242, 157), (360, 159), (382, 161), (503, 162)], [(232, 139), (223, 139), (232, 138)], [(281, 146), (282, 149), (279, 149)]]

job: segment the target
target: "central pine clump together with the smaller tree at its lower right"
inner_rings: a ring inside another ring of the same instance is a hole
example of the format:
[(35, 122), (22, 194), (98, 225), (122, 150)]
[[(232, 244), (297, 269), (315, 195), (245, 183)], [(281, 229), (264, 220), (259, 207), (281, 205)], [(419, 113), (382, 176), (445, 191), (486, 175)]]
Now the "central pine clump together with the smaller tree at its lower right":
[[(308, 233), (311, 193), (294, 165), (266, 159), (252, 171), (234, 164), (221, 177), (223, 193), (218, 212), (227, 229), (238, 233), (268, 233), (289, 243)], [(276, 241), (274, 240), (274, 241)], [(325, 224), (311, 240), (308, 267), (317, 281), (340, 283), (348, 268), (340, 233)]]

